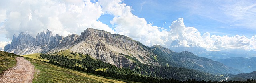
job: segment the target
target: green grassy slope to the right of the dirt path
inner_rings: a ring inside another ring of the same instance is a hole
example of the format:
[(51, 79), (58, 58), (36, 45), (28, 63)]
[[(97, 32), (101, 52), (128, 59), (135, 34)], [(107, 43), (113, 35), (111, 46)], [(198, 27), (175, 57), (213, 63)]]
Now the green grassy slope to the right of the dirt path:
[(33, 83), (124, 83), (26, 58), (35, 66)]

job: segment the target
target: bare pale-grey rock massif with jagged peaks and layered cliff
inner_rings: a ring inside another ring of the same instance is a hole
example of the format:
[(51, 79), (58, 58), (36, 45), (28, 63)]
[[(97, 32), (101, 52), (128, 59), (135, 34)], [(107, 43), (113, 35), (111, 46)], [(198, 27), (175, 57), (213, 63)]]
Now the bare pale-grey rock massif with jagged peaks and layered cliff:
[(66, 37), (47, 30), (38, 33), (36, 38), (29, 34), (21, 33), (18, 38), (14, 36), (6, 51), (18, 55), (32, 53), (53, 53), (63, 49), (88, 54), (101, 61), (116, 65), (118, 67), (129, 67), (134, 60), (149, 65), (160, 65), (154, 60), (154, 53), (149, 47), (131, 38), (118, 34), (111, 34), (103, 30), (92, 28), (86, 29), (81, 35), (71, 34)]

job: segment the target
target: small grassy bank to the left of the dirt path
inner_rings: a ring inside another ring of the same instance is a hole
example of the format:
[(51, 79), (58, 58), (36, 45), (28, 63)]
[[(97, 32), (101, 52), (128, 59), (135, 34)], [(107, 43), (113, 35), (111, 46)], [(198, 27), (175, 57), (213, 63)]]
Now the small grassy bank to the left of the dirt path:
[(16, 65), (16, 57), (18, 57), (18, 55), (5, 51), (0, 51), (0, 75), (3, 73), (4, 70), (14, 67)]

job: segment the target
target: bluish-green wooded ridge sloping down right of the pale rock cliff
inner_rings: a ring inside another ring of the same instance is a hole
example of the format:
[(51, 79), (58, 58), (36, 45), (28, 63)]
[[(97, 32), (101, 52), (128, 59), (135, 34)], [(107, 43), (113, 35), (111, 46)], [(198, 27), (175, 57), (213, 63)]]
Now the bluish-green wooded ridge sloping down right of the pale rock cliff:
[(165, 62), (174, 67), (186, 67), (208, 73), (242, 73), (220, 62), (205, 57), (198, 57), (188, 51), (174, 52), (160, 45), (154, 45), (150, 48), (153, 50), (154, 54), (158, 55), (158, 61), (162, 61), (162, 63)]

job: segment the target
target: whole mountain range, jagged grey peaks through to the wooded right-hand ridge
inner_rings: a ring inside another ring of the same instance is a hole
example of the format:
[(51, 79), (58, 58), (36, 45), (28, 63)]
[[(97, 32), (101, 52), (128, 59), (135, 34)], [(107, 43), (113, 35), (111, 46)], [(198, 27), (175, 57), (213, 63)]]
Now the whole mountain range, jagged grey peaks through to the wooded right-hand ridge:
[(242, 71), (205, 57), (198, 57), (188, 51), (174, 52), (160, 45), (147, 47), (127, 36), (92, 28), (87, 28), (80, 36), (71, 34), (66, 37), (58, 34), (54, 36), (50, 30), (46, 33), (38, 33), (36, 38), (22, 32), (19, 36), (13, 36), (12, 43), (6, 45), (4, 50), (18, 55), (50, 54), (70, 50), (88, 54), (117, 67), (131, 67), (139, 61), (148, 65), (185, 67), (214, 74), (242, 73)]

